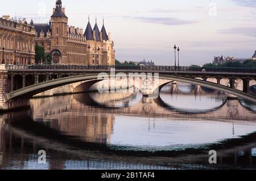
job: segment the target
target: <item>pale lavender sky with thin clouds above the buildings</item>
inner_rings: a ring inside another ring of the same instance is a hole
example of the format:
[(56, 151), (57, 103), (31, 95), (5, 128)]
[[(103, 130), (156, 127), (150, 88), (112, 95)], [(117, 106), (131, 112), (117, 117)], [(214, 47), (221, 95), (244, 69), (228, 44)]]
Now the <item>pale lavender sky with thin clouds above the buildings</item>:
[[(1, 2), (0, 15), (47, 23), (55, 0)], [(112, 33), (119, 61), (153, 60), (174, 65), (203, 65), (214, 56), (252, 57), (256, 50), (255, 0), (62, 0), (68, 24), (94, 26)]]

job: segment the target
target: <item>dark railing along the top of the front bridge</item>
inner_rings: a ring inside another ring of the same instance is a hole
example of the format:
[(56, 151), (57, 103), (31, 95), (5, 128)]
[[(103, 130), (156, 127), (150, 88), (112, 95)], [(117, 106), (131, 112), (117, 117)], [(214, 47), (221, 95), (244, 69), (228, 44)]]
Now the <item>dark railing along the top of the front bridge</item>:
[(229, 73), (256, 73), (256, 68), (215, 68), (193, 66), (141, 66), (141, 65), (5, 65), (7, 70), (155, 70), (155, 71), (218, 71)]

